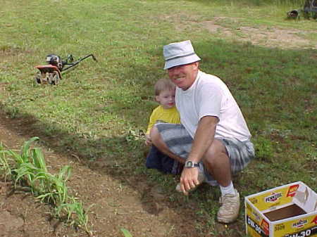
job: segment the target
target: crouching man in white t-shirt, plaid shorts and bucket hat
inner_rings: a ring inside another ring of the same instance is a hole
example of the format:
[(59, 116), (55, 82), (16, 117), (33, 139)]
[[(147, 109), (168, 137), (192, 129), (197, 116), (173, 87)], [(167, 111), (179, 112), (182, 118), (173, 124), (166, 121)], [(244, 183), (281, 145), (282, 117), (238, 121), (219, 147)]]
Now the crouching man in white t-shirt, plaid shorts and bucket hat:
[(251, 134), (228, 87), (216, 76), (199, 70), (191, 41), (163, 47), (164, 69), (177, 86), (175, 100), (181, 124), (157, 123), (151, 129), (154, 145), (185, 163), (176, 187), (185, 195), (206, 181), (220, 186), (218, 222), (237, 219), (240, 195), (232, 174), (254, 157)]

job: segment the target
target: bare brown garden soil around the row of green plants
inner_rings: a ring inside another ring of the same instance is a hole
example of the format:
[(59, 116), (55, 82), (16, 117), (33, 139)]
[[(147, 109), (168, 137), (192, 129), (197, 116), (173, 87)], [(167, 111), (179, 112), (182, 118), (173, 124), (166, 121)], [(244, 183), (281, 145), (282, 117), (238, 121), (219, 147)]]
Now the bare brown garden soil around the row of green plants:
[[(24, 141), (32, 137), (25, 121), (11, 120), (0, 114), (0, 141), (9, 149), (20, 150)], [(119, 181), (106, 172), (87, 167), (74, 156), (68, 157), (42, 147), (50, 172), (56, 173), (64, 165), (73, 167), (68, 187), (75, 190), (85, 206), (93, 205), (89, 213), (94, 236), (123, 236), (120, 228), (133, 236), (199, 236), (192, 211), (168, 207), (165, 195), (146, 181), (130, 184)], [(102, 170), (102, 169), (101, 169)], [(135, 188), (137, 187), (137, 188)], [(87, 236), (58, 223), (49, 214), (49, 207), (24, 191), (11, 193), (11, 183), (0, 182), (0, 236)]]

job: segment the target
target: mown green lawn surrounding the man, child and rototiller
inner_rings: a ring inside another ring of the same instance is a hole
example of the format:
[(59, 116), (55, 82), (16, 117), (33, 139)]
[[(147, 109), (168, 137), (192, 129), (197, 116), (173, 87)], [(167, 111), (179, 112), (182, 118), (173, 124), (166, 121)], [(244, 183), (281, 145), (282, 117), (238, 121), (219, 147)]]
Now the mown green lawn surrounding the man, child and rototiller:
[[(187, 199), (175, 180), (144, 168), (147, 127), (162, 47), (191, 39), (201, 70), (222, 78), (239, 103), (256, 146), (256, 160), (235, 181), (241, 196), (292, 181), (316, 189), (316, 20), (285, 20), (297, 1), (5, 1), (0, 11), (0, 107), (32, 119), (46, 146), (103, 160), (118, 179), (139, 175), (159, 183), (175, 205), (197, 203), (214, 231), (218, 189), (201, 187)], [(194, 10), (193, 10), (194, 9)], [(217, 20), (230, 30), (212, 33)], [(240, 41), (237, 27), (306, 30), (306, 46), (266, 47)], [(58, 87), (35, 84), (35, 65), (56, 53), (94, 53), (63, 75)], [(141, 131), (142, 130), (142, 131)], [(55, 138), (55, 139), (54, 139)], [(129, 165), (127, 165), (129, 164)], [(8, 172), (8, 171), (7, 171)], [(244, 226), (243, 210), (238, 223)], [(199, 229), (197, 224), (197, 229)], [(241, 233), (243, 230), (241, 228)]]

